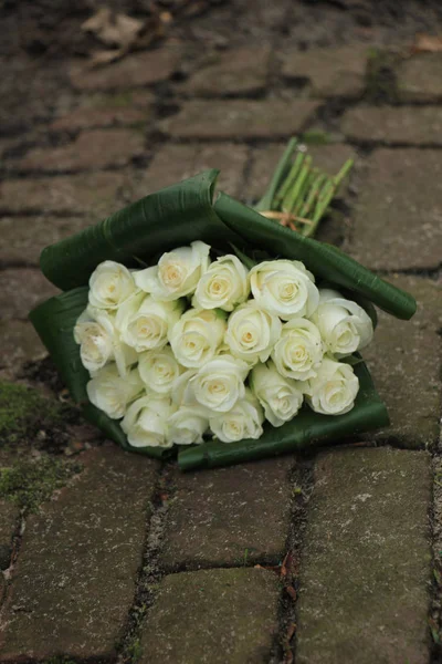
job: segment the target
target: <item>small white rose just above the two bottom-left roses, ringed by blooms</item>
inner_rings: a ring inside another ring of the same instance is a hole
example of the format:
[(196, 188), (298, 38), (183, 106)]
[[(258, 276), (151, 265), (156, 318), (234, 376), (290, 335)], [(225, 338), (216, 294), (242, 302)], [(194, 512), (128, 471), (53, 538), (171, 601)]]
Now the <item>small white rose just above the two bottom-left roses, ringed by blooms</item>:
[(170, 394), (173, 383), (180, 375), (180, 365), (170, 346), (159, 351), (147, 351), (139, 355), (138, 371), (146, 390), (166, 395)]

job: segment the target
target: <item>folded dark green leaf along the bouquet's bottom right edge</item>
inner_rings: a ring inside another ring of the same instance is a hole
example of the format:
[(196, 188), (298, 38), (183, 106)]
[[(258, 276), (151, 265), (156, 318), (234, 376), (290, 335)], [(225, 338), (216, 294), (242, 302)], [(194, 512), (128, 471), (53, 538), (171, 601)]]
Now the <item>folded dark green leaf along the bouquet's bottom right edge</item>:
[(239, 443), (203, 443), (182, 449), (178, 454), (181, 470), (214, 468), (261, 459), (284, 453), (295, 453), (316, 447), (345, 436), (357, 435), (389, 424), (386, 405), (375, 390), (365, 363), (355, 366), (360, 388), (355, 407), (345, 415), (318, 415), (303, 408), (294, 419), (274, 428), (269, 423), (257, 440)]

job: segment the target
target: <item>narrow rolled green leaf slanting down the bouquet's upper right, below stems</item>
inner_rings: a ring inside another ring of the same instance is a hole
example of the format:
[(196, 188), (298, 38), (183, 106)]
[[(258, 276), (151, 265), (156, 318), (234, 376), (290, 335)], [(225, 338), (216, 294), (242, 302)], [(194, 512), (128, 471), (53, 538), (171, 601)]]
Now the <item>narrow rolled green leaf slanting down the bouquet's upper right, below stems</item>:
[(270, 221), (227, 194), (220, 194), (214, 210), (249, 245), (266, 250), (271, 248), (275, 256), (301, 260), (317, 279), (359, 293), (397, 318), (408, 320), (415, 312), (412, 295), (377, 277), (340, 249)]

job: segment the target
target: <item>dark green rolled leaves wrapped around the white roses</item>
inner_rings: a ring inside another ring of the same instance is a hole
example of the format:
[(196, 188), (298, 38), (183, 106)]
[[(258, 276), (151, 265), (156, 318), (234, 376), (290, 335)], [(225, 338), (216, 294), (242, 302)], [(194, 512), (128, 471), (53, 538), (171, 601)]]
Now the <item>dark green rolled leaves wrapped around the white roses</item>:
[[(125, 449), (164, 458), (176, 449), (133, 448), (115, 419), (87, 400), (88, 372), (82, 365), (73, 329), (87, 305), (88, 279), (104, 260), (129, 268), (156, 262), (168, 250), (202, 240), (219, 251), (232, 245), (248, 256), (265, 252), (271, 258), (301, 260), (318, 281), (326, 281), (366, 308), (376, 323), (373, 304), (400, 319), (409, 319), (415, 301), (377, 277), (336, 247), (284, 228), (225, 194), (214, 197), (218, 170), (207, 170), (141, 198), (95, 226), (46, 247), (40, 259), (45, 277), (63, 292), (36, 307), (30, 319), (50, 352), (72, 398), (84, 417)], [(385, 404), (377, 394), (364, 362), (355, 366), (360, 391), (352, 411), (324, 416), (302, 411), (280, 428), (267, 427), (259, 440), (234, 444), (208, 442), (181, 447), (181, 469), (212, 467), (262, 458), (324, 444), (388, 424)]]

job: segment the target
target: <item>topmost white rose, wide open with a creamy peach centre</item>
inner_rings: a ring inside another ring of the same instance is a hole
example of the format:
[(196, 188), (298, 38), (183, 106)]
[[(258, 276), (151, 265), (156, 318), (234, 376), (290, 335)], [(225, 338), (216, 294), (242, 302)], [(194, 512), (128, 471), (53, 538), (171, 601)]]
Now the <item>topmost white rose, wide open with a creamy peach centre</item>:
[(136, 272), (135, 282), (155, 300), (177, 300), (193, 293), (209, 267), (209, 245), (197, 240), (164, 253), (157, 266)]

